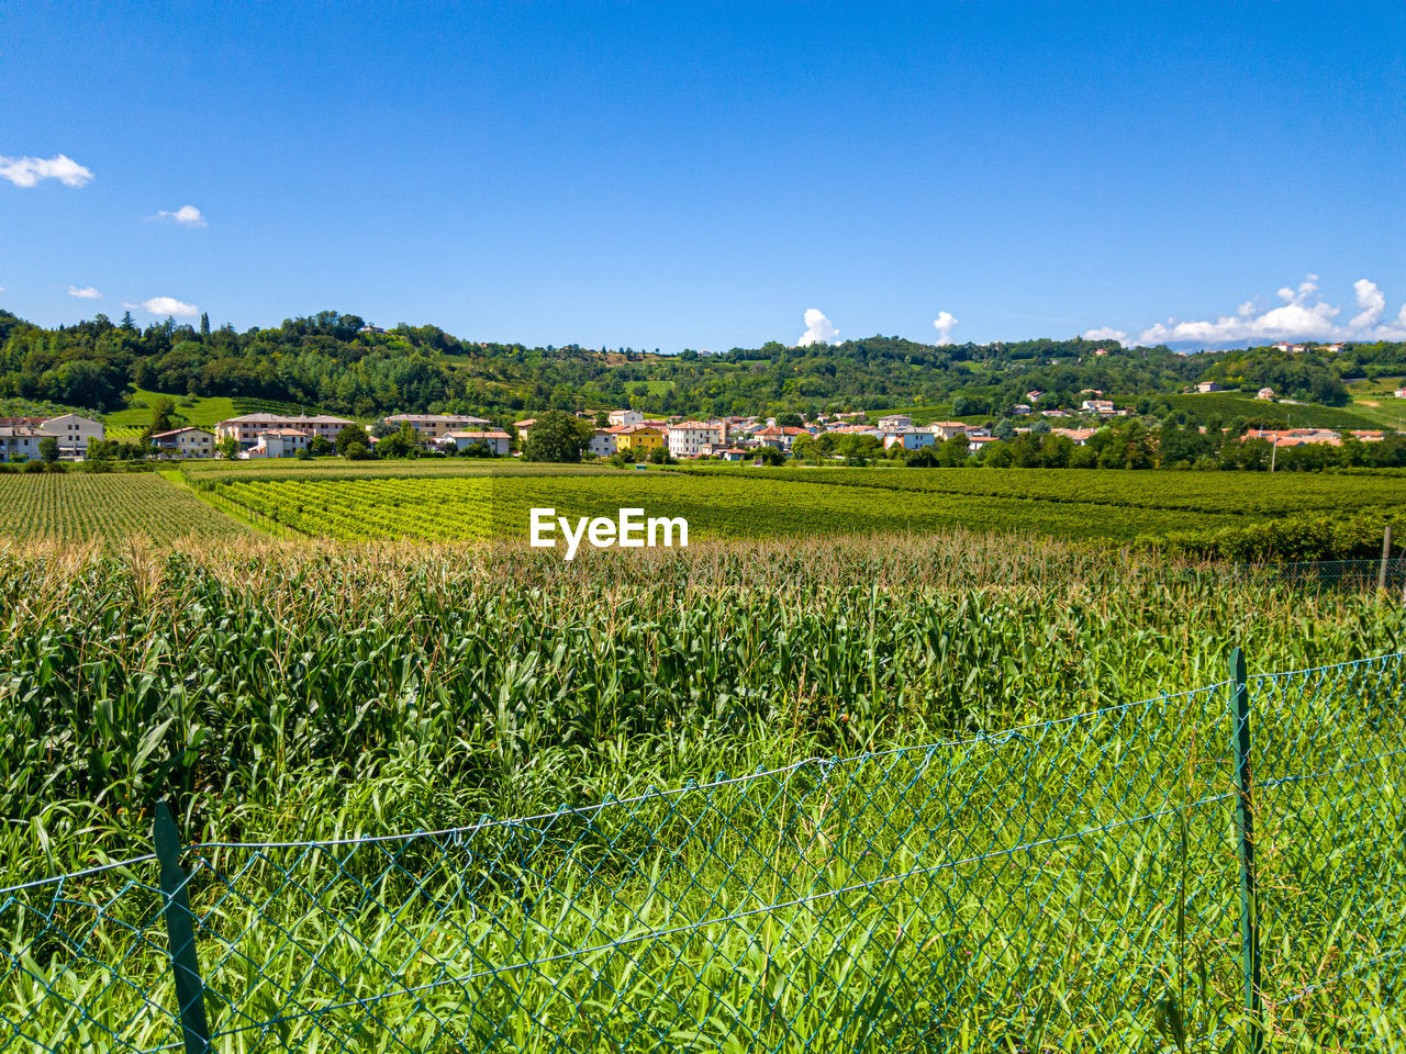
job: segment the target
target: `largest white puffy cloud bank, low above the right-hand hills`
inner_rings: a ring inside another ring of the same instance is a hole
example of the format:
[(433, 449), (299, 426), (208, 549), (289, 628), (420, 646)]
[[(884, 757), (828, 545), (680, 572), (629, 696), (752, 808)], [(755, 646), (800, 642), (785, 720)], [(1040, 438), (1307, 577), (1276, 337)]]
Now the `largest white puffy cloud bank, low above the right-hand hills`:
[[(1396, 322), (1382, 322), (1386, 312), (1386, 294), (1376, 282), (1358, 278), (1353, 282), (1357, 313), (1346, 325), (1337, 318), (1343, 308), (1330, 304), (1319, 292), (1317, 275), (1310, 274), (1298, 287), (1285, 285), (1275, 295), (1277, 306), (1246, 301), (1233, 315), (1215, 319), (1191, 319), (1178, 322), (1170, 318), (1149, 326), (1133, 344), (1170, 344), (1195, 347), (1229, 347), (1244, 343), (1271, 343), (1279, 340), (1406, 340), (1406, 306)], [(1121, 340), (1128, 343), (1126, 333), (1111, 326), (1091, 329), (1090, 340)]]

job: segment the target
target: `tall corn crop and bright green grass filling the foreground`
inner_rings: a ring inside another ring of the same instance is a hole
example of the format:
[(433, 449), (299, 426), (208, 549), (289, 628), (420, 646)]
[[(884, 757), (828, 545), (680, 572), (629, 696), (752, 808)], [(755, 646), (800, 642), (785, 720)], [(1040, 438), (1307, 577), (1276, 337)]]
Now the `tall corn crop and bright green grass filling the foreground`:
[[(188, 853), (211, 1020), (284, 1019), (218, 1047), (1143, 1050), (1173, 992), (1219, 1051), (1226, 697), (1160, 696), (1232, 639), (1305, 669), (1399, 649), (1406, 613), (980, 535), (0, 547), (0, 883), (145, 852), (157, 795), (187, 842), (536, 815)], [(1254, 691), (1274, 1048), (1399, 1051), (1399, 669)], [(645, 797), (581, 811), (607, 795)], [(179, 1041), (152, 884), (0, 897), (31, 951), (0, 954), (0, 1040), (120, 1046), (79, 1005)]]

